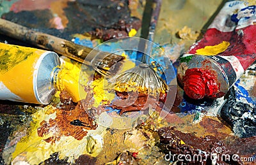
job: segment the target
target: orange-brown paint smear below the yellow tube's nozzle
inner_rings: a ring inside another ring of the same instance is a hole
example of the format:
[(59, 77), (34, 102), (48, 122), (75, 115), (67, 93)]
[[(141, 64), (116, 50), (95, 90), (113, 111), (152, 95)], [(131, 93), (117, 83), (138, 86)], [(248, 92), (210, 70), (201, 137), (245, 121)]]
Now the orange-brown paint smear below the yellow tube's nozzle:
[[(83, 126), (74, 126), (72, 124), (72, 122), (77, 120)], [(86, 130), (97, 128), (97, 124), (84, 111), (84, 107), (80, 101), (77, 105), (69, 104), (67, 107), (64, 105), (61, 108), (57, 108), (56, 118), (50, 118), (49, 122), (44, 120), (40, 123), (40, 126), (37, 129), (38, 136), (44, 137), (47, 134), (52, 134), (50, 138), (45, 139), (48, 143), (54, 143), (56, 140), (60, 140), (61, 136), (73, 136), (76, 140), (82, 140), (88, 133)]]

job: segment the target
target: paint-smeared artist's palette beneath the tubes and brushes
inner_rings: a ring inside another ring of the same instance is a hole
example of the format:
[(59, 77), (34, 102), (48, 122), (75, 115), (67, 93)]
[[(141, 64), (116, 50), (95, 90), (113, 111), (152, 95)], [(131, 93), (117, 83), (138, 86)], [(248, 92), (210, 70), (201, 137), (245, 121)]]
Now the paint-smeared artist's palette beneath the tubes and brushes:
[[(200, 38), (200, 31), (204, 32), (211, 23), (221, 2), (163, 1), (152, 51), (157, 63), (152, 66), (175, 93), (168, 97), (173, 99), (172, 110), (159, 113), (148, 108), (120, 115), (120, 109), (111, 107), (118, 97), (109, 78), (90, 66), (61, 57), (62, 69), (79, 79), (86, 98), (74, 103), (67, 92), (57, 92), (46, 106), (1, 101), (0, 164), (189, 164), (191, 161), (171, 157), (188, 153), (226, 154), (230, 159), (239, 155), (246, 158), (244, 164), (255, 164), (255, 65), (227, 96), (214, 100), (189, 99), (172, 81), (177, 58)], [(255, 5), (254, 1), (249, 3)], [(136, 39), (100, 43), (117, 34), (129, 35), (125, 28), (138, 25), (145, 1), (10, 0), (0, 4), (2, 18), (80, 45), (127, 56), (120, 72), (136, 65)], [(122, 20), (129, 22), (123, 29)], [(115, 28), (121, 30), (113, 31)], [(136, 36), (140, 36), (140, 27), (137, 30)], [(0, 41), (5, 40), (25, 44), (1, 36)], [(127, 47), (130, 50), (125, 50)], [(169, 60), (174, 68), (166, 78), (162, 73), (170, 69)], [(217, 161), (236, 163), (222, 161), (221, 157)]]

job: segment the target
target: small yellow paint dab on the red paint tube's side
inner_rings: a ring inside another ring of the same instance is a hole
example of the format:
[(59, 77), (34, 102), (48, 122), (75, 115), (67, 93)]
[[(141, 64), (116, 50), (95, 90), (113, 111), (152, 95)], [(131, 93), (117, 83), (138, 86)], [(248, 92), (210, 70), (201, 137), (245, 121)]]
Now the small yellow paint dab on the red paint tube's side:
[(217, 55), (221, 52), (224, 52), (230, 43), (228, 41), (222, 41), (222, 43), (214, 46), (206, 46), (204, 48), (200, 48), (196, 50), (196, 54), (198, 55)]

